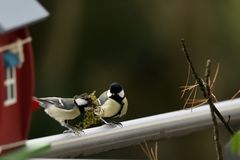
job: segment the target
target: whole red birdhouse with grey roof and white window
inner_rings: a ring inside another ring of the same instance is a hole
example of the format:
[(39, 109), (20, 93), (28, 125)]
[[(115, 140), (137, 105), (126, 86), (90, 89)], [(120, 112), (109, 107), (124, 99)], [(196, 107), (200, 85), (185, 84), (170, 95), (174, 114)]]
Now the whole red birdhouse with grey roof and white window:
[(0, 1), (0, 145), (27, 138), (34, 89), (27, 27), (47, 16), (36, 0)]

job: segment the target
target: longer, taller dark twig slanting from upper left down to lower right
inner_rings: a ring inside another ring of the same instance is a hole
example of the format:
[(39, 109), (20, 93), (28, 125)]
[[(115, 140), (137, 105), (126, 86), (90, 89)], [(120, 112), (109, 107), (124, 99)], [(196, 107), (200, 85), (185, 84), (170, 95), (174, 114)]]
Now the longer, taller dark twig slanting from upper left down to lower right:
[[(208, 99), (208, 104), (210, 105), (210, 107), (213, 109), (214, 113), (217, 115), (217, 117), (221, 120), (221, 122), (224, 124), (225, 128), (227, 129), (227, 131), (233, 135), (234, 134), (234, 131), (233, 129), (229, 126), (229, 124), (226, 122), (226, 120), (224, 119), (224, 117), (222, 116), (222, 114), (218, 111), (218, 109), (216, 108), (216, 106), (214, 105), (212, 99), (209, 101), (209, 96), (207, 96), (207, 91), (205, 89), (205, 85), (204, 85), (204, 81), (199, 78), (197, 72), (195, 71), (195, 68), (193, 66), (193, 63), (190, 59), (190, 56), (189, 56), (189, 51), (186, 47), (186, 44), (185, 44), (185, 40), (184, 39), (181, 39), (181, 43), (182, 43), (182, 50), (183, 50), (183, 53), (185, 54), (186, 58), (187, 58), (187, 61), (191, 67), (191, 70), (192, 70), (192, 74), (194, 76), (194, 78), (196, 79), (199, 87), (200, 87), (200, 90), (202, 91), (203, 93), (203, 96), (204, 98)], [(210, 88), (209, 88), (210, 90)], [(211, 92), (210, 92), (211, 94)], [(211, 95), (210, 95), (211, 96)]]

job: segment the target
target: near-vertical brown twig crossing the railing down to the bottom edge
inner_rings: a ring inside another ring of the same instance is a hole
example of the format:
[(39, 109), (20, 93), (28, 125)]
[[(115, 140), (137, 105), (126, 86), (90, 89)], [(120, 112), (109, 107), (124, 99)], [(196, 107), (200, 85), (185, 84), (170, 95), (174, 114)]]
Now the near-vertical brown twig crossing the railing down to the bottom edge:
[[(212, 102), (212, 93), (210, 89), (210, 70), (211, 70), (211, 61), (207, 60), (207, 65), (206, 65), (206, 70), (205, 70), (205, 91), (206, 95), (208, 97), (208, 104), (211, 104)], [(216, 116), (214, 114), (214, 109), (213, 106), (210, 105), (210, 110), (211, 110), (211, 116), (212, 116), (212, 121), (213, 121), (213, 136), (214, 136), (214, 142), (216, 146), (216, 152), (217, 152), (217, 159), (218, 160), (223, 160), (223, 152), (222, 152), (222, 146), (220, 144), (220, 139), (219, 139), (219, 130), (218, 130), (218, 123)]]

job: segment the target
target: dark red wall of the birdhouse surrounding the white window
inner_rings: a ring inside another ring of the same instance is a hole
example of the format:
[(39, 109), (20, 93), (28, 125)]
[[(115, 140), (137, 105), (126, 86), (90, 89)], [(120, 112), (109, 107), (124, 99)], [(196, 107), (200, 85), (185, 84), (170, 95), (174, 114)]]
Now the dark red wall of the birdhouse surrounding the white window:
[[(0, 47), (26, 39), (26, 28), (0, 35)], [(5, 106), (5, 69), (3, 53), (0, 53), (0, 144), (12, 143), (27, 138), (31, 120), (31, 100), (33, 95), (33, 57), (31, 43), (23, 45), (24, 62), (16, 66), (16, 103)]]

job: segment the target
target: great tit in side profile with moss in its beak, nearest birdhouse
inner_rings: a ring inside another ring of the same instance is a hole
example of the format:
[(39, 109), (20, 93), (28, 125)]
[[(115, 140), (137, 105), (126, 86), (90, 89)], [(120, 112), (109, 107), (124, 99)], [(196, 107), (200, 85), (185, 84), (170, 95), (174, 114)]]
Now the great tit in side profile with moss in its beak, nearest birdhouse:
[(75, 119), (84, 113), (88, 106), (88, 101), (82, 98), (60, 98), (60, 97), (46, 97), (36, 98), (35, 101), (39, 102), (39, 105), (44, 108), (44, 111), (56, 121), (58, 121), (63, 127), (69, 131), (79, 134), (80, 132), (70, 124), (68, 120)]

